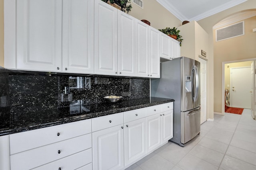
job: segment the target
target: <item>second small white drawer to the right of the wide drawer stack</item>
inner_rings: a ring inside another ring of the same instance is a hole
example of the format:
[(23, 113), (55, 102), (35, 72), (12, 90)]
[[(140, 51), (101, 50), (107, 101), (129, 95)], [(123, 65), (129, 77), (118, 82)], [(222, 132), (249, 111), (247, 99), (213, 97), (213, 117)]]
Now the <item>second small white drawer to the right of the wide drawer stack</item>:
[(124, 112), (124, 123), (146, 117), (146, 107)]

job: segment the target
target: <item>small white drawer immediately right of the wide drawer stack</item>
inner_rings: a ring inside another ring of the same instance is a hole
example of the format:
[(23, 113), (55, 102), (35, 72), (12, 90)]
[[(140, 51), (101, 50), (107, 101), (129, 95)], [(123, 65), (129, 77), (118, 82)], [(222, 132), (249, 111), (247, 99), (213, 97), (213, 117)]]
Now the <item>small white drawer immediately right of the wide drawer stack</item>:
[(113, 127), (116, 125), (121, 125), (124, 123), (124, 113), (116, 113), (112, 115), (106, 115), (101, 117), (96, 117), (92, 119), (92, 131), (99, 131), (101, 129), (106, 129), (108, 127)]

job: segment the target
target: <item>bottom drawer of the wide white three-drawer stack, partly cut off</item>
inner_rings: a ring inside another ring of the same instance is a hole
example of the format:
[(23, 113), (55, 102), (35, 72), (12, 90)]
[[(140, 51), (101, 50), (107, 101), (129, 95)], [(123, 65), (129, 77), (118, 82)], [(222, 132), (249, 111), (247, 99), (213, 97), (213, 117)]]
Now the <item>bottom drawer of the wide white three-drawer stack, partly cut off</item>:
[(34, 168), (33, 170), (74, 170), (92, 162), (92, 148)]

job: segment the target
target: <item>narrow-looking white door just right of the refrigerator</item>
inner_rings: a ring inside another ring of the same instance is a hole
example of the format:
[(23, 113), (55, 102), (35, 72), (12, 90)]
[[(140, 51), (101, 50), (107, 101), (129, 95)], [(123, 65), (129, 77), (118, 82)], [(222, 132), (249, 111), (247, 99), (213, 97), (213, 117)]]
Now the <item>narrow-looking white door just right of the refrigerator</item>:
[(207, 106), (207, 61), (199, 58), (200, 62), (200, 89), (201, 89), (201, 120), (200, 123), (206, 121)]

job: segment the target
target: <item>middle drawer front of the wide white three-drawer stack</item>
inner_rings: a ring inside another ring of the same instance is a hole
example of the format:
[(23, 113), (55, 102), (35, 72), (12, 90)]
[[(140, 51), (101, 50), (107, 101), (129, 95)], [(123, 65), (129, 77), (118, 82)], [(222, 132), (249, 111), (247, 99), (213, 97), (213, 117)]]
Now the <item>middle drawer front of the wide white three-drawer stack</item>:
[(27, 150), (10, 156), (12, 170), (32, 169), (92, 147), (92, 134)]

